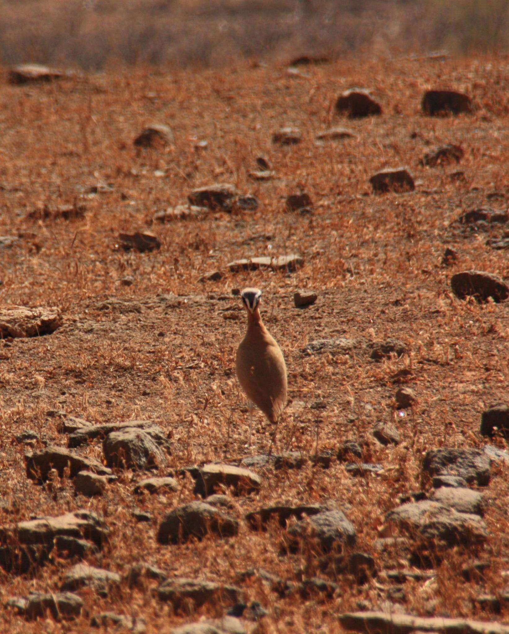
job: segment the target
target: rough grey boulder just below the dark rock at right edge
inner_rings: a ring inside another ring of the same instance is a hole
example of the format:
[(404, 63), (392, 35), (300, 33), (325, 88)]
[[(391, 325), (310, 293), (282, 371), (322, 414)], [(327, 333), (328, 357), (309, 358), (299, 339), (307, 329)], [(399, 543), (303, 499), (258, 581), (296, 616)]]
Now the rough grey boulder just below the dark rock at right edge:
[(434, 475), (458, 475), (468, 484), (476, 482), (487, 486), (490, 479), (491, 461), (480, 449), (442, 448), (427, 451), (423, 460), (423, 471)]

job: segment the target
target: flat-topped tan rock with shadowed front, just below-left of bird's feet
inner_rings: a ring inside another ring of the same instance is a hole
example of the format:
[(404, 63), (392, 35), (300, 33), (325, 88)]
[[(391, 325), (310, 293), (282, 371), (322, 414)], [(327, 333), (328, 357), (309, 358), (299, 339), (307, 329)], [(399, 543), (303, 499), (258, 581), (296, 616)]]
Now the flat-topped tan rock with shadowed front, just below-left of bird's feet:
[(194, 493), (201, 496), (210, 495), (223, 487), (233, 489), (236, 495), (246, 495), (258, 493), (261, 487), (259, 475), (234, 465), (211, 463), (191, 472), (191, 475), (195, 478)]

